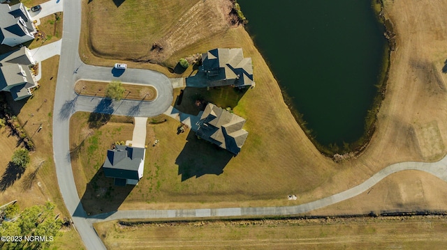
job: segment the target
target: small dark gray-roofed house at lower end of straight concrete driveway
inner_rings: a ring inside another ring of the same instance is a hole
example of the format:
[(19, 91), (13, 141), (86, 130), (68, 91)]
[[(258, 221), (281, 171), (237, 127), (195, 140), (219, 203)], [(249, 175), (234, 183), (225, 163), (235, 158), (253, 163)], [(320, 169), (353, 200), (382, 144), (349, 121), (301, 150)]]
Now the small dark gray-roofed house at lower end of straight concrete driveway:
[(107, 150), (103, 164), (105, 177), (115, 178), (115, 185), (137, 185), (145, 167), (145, 148), (117, 145)]

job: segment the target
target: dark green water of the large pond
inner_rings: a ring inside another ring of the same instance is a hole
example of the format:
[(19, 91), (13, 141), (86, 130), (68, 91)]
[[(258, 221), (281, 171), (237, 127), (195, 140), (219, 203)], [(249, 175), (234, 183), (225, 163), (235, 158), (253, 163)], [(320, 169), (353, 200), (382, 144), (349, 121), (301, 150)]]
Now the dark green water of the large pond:
[(388, 58), (383, 25), (371, 2), (238, 3), (307, 133), (332, 149), (358, 141), (379, 93), (383, 58)]

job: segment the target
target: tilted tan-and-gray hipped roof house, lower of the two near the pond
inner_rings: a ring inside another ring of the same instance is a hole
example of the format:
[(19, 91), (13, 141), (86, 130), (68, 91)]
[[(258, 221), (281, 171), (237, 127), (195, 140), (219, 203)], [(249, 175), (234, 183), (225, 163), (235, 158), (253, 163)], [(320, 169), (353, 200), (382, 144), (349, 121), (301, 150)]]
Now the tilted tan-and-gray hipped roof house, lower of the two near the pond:
[(196, 135), (237, 155), (249, 132), (243, 130), (245, 119), (209, 103), (205, 107)]

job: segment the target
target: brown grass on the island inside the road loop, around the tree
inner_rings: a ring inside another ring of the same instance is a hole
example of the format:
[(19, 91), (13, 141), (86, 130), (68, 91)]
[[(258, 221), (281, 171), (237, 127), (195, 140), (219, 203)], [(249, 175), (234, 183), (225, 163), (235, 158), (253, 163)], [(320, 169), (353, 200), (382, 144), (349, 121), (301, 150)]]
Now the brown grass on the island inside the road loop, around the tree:
[[(108, 81), (77, 81), (75, 91), (79, 95), (101, 96), (105, 97), (105, 89), (110, 82)], [(124, 99), (138, 101), (153, 101), (157, 93), (153, 86), (126, 84), (123, 83)]]

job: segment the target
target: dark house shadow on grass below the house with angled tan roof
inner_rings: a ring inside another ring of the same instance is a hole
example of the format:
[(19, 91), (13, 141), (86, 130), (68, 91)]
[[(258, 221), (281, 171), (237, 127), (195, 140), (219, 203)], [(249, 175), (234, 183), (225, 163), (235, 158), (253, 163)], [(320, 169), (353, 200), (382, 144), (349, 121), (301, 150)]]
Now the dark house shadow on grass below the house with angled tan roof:
[(208, 174), (220, 175), (233, 156), (219, 146), (198, 139), (196, 134), (190, 131), (182, 152), (175, 159), (175, 164), (179, 166), (178, 174), (182, 175), (184, 181), (194, 176), (199, 178)]

